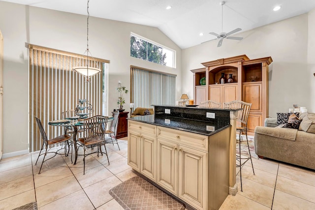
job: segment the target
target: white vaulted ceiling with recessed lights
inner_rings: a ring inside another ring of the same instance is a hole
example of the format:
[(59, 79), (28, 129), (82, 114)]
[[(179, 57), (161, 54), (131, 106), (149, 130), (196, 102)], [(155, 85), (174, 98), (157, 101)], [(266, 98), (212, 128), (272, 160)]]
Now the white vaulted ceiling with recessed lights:
[[(3, 1), (87, 15), (87, 0)], [(229, 32), (236, 28), (251, 30), (315, 8), (315, 0), (225, 0), (222, 15), (220, 2), (221, 0), (90, 0), (89, 12), (94, 17), (157, 27), (180, 48), (185, 49), (215, 39), (209, 32)], [(166, 9), (169, 5), (172, 8)], [(277, 5), (281, 9), (273, 11)], [(200, 33), (204, 35), (200, 36)]]

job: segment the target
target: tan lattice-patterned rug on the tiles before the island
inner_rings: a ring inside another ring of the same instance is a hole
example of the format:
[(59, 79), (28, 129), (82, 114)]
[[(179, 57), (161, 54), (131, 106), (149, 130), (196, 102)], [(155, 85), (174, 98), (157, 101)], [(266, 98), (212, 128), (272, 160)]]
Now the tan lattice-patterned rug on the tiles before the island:
[(185, 210), (185, 205), (156, 186), (135, 176), (109, 190), (125, 210)]

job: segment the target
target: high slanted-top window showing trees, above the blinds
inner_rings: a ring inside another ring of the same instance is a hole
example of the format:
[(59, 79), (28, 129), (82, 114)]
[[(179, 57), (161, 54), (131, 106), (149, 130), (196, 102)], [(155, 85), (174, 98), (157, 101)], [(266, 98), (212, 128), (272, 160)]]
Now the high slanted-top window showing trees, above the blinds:
[(130, 35), (130, 56), (175, 68), (176, 51), (136, 34)]

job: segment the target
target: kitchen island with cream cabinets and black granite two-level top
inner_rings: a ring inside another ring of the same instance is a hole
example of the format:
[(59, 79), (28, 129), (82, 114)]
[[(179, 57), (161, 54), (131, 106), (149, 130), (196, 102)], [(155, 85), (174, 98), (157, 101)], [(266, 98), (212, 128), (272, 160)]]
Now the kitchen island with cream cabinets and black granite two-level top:
[(129, 118), (128, 165), (194, 209), (218, 210), (237, 192), (236, 111), (156, 105)]

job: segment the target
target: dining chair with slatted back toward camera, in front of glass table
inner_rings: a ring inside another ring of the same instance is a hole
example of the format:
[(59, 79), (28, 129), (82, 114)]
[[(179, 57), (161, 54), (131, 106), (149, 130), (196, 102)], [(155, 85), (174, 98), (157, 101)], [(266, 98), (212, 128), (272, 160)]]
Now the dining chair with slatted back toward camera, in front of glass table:
[[(78, 143), (83, 146), (84, 149), (84, 157), (83, 157), (83, 175), (85, 175), (85, 158), (89, 154), (94, 154), (97, 152), (101, 153), (101, 155), (106, 154), (107, 161), (109, 165), (109, 159), (107, 155), (106, 145), (105, 145), (105, 131), (108, 122), (108, 117), (104, 117), (101, 115), (96, 115), (91, 118), (80, 119), (79, 122), (83, 123), (83, 137), (78, 138)], [(90, 152), (86, 154), (86, 150), (91, 147), (97, 145), (97, 150), (95, 152)], [(101, 146), (104, 145), (105, 152), (102, 152)]]

